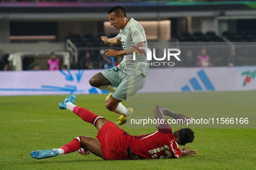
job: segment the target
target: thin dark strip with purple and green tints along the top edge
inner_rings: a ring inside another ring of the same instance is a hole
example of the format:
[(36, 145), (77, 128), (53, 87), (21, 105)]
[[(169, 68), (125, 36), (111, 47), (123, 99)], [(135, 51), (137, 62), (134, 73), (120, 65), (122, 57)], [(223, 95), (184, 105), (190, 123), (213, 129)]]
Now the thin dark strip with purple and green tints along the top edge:
[[(19, 12), (103, 12), (112, 6), (123, 6), (127, 10), (136, 12), (155, 11), (208, 11), (208, 10), (234, 10), (256, 9), (256, 1), (143, 1), (143, 2), (3, 2), (0, 3), (1, 13)], [(15, 9), (15, 10), (13, 10)], [(47, 10), (45, 10), (47, 9)], [(58, 10), (56, 10), (58, 9)], [(86, 10), (84, 10), (86, 9)], [(95, 10), (96, 9), (96, 10)]]

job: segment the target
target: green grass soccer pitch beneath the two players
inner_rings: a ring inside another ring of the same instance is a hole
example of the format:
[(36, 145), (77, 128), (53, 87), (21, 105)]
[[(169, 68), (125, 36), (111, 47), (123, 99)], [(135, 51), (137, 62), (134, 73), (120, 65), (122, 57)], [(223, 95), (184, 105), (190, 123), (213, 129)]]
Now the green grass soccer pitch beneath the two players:
[[(143, 105), (147, 95), (136, 94)], [(139, 98), (141, 96), (141, 98)], [(245, 113), (256, 114), (256, 91), (169, 93), (168, 107), (177, 113)], [(195, 157), (168, 160), (104, 161), (93, 154), (78, 152), (36, 160), (30, 152), (60, 148), (80, 135), (96, 139), (96, 128), (69, 110), (60, 110), (58, 103), (66, 95), (0, 97), (0, 170), (2, 169), (256, 169), (256, 129), (192, 129), (195, 139), (191, 146)], [(108, 111), (106, 94), (77, 95), (75, 104), (116, 122), (118, 115)], [(144, 98), (144, 99), (142, 99)], [(164, 105), (165, 106), (165, 105)], [(143, 110), (140, 110), (143, 111)], [(136, 110), (134, 110), (136, 115)], [(153, 115), (153, 111), (149, 114)], [(156, 129), (126, 129), (131, 135), (143, 135)], [(176, 130), (176, 129), (174, 129)], [(182, 148), (182, 146), (180, 147)]]

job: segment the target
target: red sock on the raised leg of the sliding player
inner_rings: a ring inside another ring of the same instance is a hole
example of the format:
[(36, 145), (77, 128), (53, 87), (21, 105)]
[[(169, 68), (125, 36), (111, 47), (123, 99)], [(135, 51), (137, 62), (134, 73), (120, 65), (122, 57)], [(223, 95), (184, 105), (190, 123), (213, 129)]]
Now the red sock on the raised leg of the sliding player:
[(82, 120), (91, 123), (95, 126), (96, 122), (100, 119), (104, 117), (98, 116), (94, 113), (91, 112), (91, 110), (88, 109), (84, 109), (82, 107), (74, 107), (73, 112), (76, 113)]

